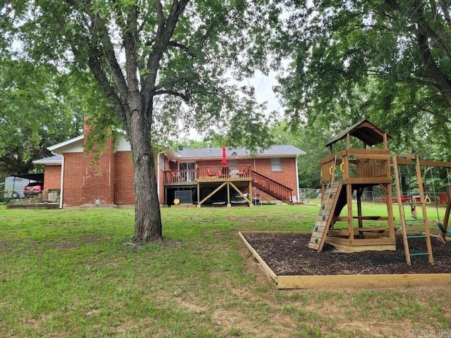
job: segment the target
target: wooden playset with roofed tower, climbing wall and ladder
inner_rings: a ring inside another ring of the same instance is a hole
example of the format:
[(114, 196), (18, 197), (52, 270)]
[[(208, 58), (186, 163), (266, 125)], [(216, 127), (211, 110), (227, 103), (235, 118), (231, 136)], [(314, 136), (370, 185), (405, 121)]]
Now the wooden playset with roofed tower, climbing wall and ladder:
[[(351, 137), (362, 142), (362, 149), (352, 149)], [(345, 252), (366, 250), (395, 250), (395, 225), (393, 203), (400, 210), (400, 222), (406, 261), (410, 264), (413, 256), (428, 256), (433, 263), (431, 238), (428, 218), (426, 215), (426, 196), (421, 180), (421, 165), (451, 168), (451, 162), (420, 161), (416, 155), (400, 156), (390, 154), (388, 140), (390, 136), (368, 120), (362, 120), (331, 139), (326, 146), (330, 155), (321, 160), (322, 199), (318, 218), (312, 229), (309, 248), (321, 251), (324, 243), (332, 244)], [(334, 152), (333, 146), (344, 140), (343, 150)], [(419, 201), (412, 201), (402, 194), (399, 178), (399, 165), (414, 165), (416, 182), (419, 191)], [(395, 177), (396, 196), (392, 193), (392, 171)], [(362, 194), (367, 187), (379, 186), (385, 192), (387, 215), (363, 215)], [(352, 206), (352, 194), (356, 193), (357, 213)], [(404, 208), (421, 206), (417, 218), (406, 217)], [(345, 215), (340, 215), (342, 211)], [(448, 232), (447, 223), (451, 211), (450, 198), (447, 198), (447, 211), (443, 224), (443, 233)], [(379, 227), (365, 227), (365, 222), (371, 220), (380, 223)], [(421, 234), (408, 234), (406, 224), (421, 222)], [(444, 236), (444, 235), (443, 235)], [(409, 240), (425, 241), (424, 252), (409, 252)]]

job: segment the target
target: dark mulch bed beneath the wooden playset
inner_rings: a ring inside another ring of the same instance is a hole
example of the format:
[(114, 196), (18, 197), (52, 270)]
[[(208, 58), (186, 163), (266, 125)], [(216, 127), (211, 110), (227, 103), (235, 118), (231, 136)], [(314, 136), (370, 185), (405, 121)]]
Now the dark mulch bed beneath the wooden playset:
[[(278, 276), (288, 275), (376, 275), (402, 273), (451, 273), (451, 242), (431, 237), (435, 264), (427, 256), (412, 257), (407, 265), (402, 237), (396, 238), (396, 251), (342, 253), (329, 244), (323, 251), (309, 249), (306, 234), (243, 234), (252, 248)], [(411, 253), (426, 252), (425, 239), (409, 241)]]

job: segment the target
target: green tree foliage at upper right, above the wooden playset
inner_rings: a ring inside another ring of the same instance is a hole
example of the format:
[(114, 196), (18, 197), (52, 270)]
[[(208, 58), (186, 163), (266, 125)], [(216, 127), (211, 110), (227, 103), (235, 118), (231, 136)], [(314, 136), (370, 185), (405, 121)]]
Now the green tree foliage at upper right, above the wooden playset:
[(278, 90), (292, 120), (339, 132), (369, 118), (397, 149), (449, 144), (448, 1), (284, 3), (276, 46), (292, 62)]

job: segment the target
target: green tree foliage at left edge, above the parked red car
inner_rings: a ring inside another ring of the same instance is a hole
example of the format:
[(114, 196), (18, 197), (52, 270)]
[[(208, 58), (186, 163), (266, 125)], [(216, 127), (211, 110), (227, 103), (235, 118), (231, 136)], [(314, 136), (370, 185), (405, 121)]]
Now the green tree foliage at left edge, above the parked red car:
[(79, 93), (62, 96), (62, 81), (51, 65), (0, 61), (0, 175), (28, 173), (32, 160), (51, 155), (48, 146), (80, 134)]

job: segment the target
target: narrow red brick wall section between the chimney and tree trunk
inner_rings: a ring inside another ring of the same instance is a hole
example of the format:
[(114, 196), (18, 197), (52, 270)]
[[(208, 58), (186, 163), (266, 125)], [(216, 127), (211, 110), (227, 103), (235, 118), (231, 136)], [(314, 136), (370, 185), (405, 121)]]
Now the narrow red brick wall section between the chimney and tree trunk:
[(117, 151), (114, 157), (116, 162), (114, 204), (134, 204), (132, 152)]

